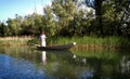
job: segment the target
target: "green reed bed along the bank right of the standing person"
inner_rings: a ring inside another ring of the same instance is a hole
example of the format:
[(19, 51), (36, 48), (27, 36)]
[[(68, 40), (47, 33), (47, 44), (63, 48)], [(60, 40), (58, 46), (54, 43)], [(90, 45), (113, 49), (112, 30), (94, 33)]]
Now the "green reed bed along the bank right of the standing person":
[(115, 49), (129, 49), (130, 41), (128, 38), (122, 37), (54, 37), (49, 38), (48, 44), (65, 44), (76, 42), (74, 49), (80, 50), (115, 50)]

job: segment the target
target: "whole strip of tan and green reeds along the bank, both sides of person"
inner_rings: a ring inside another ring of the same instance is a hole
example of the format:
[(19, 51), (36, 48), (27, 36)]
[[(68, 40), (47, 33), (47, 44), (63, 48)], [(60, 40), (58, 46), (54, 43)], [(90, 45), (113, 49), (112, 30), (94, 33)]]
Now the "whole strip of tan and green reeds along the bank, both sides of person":
[[(129, 49), (130, 41), (128, 38), (122, 37), (51, 37), (47, 39), (47, 45), (66, 44), (76, 42), (77, 45), (74, 50), (116, 50)], [(40, 41), (36, 37), (4, 37), (0, 38), (0, 47), (21, 47), (39, 44)]]

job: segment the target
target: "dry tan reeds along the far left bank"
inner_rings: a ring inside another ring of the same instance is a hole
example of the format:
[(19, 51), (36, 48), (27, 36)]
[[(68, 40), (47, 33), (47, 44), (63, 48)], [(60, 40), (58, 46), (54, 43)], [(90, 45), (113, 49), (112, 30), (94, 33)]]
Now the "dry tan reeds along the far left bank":
[(0, 45), (3, 47), (17, 47), (17, 45), (27, 45), (27, 42), (31, 40), (30, 36), (23, 37), (0, 37)]

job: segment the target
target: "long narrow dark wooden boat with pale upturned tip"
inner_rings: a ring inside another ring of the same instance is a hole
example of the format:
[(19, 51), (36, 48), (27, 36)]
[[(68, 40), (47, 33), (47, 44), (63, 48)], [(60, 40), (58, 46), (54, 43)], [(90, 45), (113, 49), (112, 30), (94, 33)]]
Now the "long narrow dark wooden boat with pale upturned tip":
[(38, 50), (41, 51), (46, 51), (46, 50), (68, 50), (70, 48), (73, 48), (74, 45), (76, 45), (76, 42), (73, 43), (68, 43), (68, 44), (62, 44), (62, 45), (48, 45), (48, 47), (41, 47), (41, 45), (37, 45)]

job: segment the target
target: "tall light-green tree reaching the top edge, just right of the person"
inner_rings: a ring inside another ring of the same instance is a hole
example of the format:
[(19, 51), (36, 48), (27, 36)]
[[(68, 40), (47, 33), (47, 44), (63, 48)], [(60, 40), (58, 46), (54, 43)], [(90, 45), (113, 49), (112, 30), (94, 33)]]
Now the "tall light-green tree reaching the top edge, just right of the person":
[[(54, 0), (52, 3), (53, 13), (57, 18), (58, 35), (66, 35), (69, 31), (68, 25), (74, 21), (76, 5), (73, 0)], [(72, 26), (73, 27), (73, 26)]]

